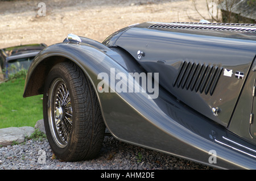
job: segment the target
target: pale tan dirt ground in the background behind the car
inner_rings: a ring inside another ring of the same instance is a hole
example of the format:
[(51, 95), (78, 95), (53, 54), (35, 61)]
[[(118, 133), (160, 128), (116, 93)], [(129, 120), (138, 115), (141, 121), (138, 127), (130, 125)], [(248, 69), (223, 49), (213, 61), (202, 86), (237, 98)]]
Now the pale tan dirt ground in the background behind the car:
[[(188, 0), (44, 0), (46, 16), (38, 15), (39, 2), (0, 1), (0, 48), (27, 43), (51, 45), (63, 41), (68, 33), (102, 42), (130, 24), (201, 19)], [(209, 17), (205, 0), (196, 3), (200, 13)]]

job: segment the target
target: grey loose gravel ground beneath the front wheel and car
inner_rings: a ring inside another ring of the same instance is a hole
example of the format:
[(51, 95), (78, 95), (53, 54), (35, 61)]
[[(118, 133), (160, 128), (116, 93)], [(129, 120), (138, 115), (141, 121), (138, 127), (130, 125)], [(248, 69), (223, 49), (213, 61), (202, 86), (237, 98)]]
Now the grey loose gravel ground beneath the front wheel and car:
[(171, 155), (144, 149), (105, 136), (96, 159), (63, 162), (54, 158), (47, 139), (0, 148), (0, 170), (211, 170)]

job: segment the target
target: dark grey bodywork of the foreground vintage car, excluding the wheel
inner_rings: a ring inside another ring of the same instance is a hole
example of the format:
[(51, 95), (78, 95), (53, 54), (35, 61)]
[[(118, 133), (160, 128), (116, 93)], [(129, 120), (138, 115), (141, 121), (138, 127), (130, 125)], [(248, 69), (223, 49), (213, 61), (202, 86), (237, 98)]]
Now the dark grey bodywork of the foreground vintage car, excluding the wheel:
[[(72, 61), (92, 83), (105, 125), (119, 140), (220, 169), (256, 169), (255, 24), (147, 22), (103, 43), (80, 38), (36, 56), (24, 97), (43, 94), (52, 66)], [(111, 77), (111, 69), (159, 73), (159, 96), (99, 92), (98, 74)]]

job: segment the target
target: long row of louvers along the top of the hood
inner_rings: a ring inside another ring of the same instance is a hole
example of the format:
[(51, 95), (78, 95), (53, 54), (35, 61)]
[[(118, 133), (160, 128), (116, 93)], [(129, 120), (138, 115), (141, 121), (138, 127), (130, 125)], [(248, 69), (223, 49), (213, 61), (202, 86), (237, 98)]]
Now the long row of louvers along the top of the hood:
[(215, 31), (234, 31), (234, 32), (256, 32), (256, 24), (241, 23), (157, 23), (148, 28), (153, 29), (184, 29), (184, 30), (215, 30)]

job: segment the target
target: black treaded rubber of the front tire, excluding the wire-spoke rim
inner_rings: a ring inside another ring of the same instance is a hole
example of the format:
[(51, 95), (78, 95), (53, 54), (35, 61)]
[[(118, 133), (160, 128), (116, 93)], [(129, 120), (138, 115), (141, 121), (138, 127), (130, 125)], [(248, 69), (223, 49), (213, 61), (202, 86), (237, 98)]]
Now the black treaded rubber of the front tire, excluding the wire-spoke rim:
[(51, 72), (55, 71), (60, 71), (71, 87), (69, 94), (72, 94), (75, 103), (73, 121), (76, 121), (72, 125), (72, 129), (74, 125), (75, 127), (68, 144), (68, 151), (57, 157), (64, 161), (92, 159), (100, 152), (105, 135), (105, 124), (96, 92), (89, 79), (73, 62), (61, 62), (51, 70)]

